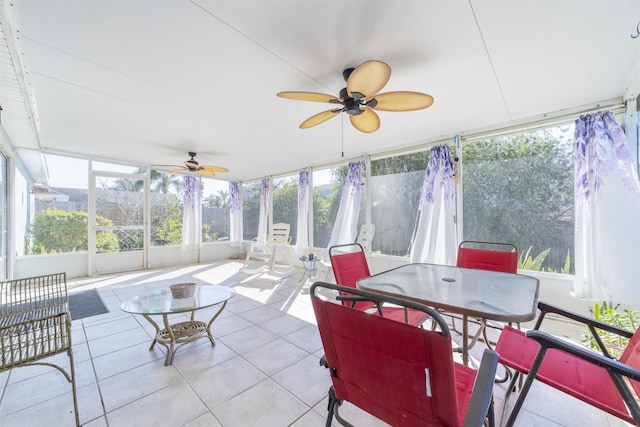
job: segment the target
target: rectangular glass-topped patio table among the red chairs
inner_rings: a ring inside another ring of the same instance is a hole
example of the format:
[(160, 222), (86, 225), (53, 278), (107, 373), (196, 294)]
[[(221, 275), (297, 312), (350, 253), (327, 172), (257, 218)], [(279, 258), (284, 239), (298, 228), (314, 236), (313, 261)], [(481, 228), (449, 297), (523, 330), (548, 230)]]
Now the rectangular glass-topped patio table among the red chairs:
[[(535, 318), (538, 279), (437, 264), (407, 264), (358, 280), (360, 289), (413, 300), (462, 316), (462, 361), (469, 362), (469, 316), (502, 322)], [(484, 327), (484, 325), (482, 325)]]

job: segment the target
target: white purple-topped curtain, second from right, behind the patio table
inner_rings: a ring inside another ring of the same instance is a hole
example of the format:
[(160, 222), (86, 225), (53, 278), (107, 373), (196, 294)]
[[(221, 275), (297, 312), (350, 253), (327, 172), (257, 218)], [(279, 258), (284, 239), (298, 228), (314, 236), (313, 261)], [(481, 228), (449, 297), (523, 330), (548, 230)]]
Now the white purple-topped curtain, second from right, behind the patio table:
[(418, 225), (411, 262), (454, 265), (456, 260), (455, 184), (448, 145), (431, 148), (420, 192)]

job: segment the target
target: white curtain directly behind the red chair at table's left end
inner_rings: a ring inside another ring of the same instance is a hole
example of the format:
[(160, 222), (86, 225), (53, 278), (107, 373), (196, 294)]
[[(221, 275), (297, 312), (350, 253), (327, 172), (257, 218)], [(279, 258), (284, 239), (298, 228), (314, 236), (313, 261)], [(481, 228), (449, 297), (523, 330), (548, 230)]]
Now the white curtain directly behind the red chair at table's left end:
[(360, 200), (362, 198), (362, 171), (364, 162), (349, 163), (349, 170), (342, 187), (338, 214), (331, 231), (331, 239), (327, 248), (342, 243), (356, 241), (358, 232), (358, 214), (360, 213)]

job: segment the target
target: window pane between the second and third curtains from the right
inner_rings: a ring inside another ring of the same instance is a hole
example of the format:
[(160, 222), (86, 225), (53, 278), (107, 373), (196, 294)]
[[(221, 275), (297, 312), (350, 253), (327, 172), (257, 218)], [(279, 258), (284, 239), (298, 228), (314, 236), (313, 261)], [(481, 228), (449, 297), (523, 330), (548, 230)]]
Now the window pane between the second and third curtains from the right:
[(429, 150), (371, 162), (373, 252), (409, 254)]

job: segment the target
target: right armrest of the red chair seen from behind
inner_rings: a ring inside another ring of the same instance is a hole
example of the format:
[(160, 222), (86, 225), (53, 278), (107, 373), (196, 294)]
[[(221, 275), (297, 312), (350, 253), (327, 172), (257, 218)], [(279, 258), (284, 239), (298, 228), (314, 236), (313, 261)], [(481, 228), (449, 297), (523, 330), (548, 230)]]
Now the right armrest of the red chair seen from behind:
[[(493, 384), (496, 378), (499, 355), (493, 350), (485, 349), (473, 384), (471, 399), (467, 406), (463, 427), (481, 426), (487, 418), (487, 413), (493, 408)], [(491, 418), (493, 414), (491, 414)]]

